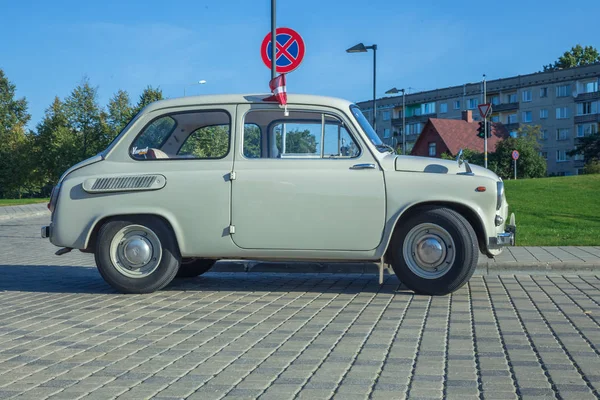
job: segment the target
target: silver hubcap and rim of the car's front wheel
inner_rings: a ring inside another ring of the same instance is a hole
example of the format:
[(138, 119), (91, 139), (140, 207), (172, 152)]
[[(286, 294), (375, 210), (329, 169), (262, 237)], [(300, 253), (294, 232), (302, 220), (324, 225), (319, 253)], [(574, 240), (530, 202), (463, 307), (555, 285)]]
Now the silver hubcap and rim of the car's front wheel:
[(439, 225), (419, 224), (406, 235), (402, 253), (408, 268), (417, 276), (437, 279), (448, 273), (454, 263), (454, 240)]

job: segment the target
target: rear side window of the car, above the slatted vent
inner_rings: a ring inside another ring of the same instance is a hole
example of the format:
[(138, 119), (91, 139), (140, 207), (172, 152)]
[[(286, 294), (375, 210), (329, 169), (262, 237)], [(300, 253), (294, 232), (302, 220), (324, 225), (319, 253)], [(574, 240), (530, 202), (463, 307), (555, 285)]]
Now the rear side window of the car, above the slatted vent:
[(172, 113), (150, 122), (133, 141), (136, 160), (219, 159), (229, 153), (231, 118), (221, 110)]

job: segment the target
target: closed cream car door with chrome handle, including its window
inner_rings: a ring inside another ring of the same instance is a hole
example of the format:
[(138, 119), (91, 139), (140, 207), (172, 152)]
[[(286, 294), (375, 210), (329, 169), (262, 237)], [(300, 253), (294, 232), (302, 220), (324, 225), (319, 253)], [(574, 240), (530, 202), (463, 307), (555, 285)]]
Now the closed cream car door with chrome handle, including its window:
[(238, 106), (233, 241), (245, 249), (376, 248), (385, 225), (377, 160), (343, 114), (288, 110)]

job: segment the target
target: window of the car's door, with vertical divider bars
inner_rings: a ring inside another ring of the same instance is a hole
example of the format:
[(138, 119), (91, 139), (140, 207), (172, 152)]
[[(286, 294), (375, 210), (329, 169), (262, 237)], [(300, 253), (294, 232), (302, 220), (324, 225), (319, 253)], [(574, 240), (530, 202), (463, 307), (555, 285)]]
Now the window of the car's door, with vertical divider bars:
[[(360, 155), (360, 147), (345, 124), (331, 114), (290, 111), (288, 116), (283, 116), (281, 111), (256, 110), (246, 115), (245, 123), (246, 158), (355, 158)], [(249, 126), (255, 127), (254, 131), (250, 132)], [(257, 150), (251, 152), (256, 143), (260, 147), (256, 146)]]

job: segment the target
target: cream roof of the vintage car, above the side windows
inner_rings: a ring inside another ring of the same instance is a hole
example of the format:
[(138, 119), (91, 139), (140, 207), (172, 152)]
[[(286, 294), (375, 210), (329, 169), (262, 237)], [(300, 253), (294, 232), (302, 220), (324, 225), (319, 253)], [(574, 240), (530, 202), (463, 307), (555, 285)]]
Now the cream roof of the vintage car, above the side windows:
[[(252, 103), (273, 103), (276, 102), (265, 102), (264, 99), (271, 96), (271, 93), (253, 93), (253, 94), (212, 94), (212, 95), (200, 95), (200, 96), (185, 96), (176, 97), (173, 99), (158, 100), (148, 104), (144, 108), (144, 112), (152, 112), (164, 108), (171, 107), (182, 107), (182, 106), (196, 106), (196, 105), (207, 105), (207, 104), (252, 104)], [(348, 100), (329, 97), (319, 96), (312, 94), (287, 94), (288, 104), (313, 104), (331, 106), (340, 109), (346, 109), (346, 107), (354, 104)]]

